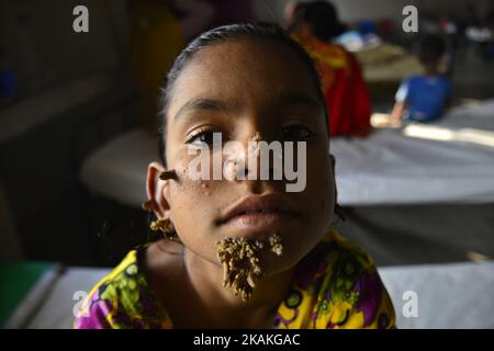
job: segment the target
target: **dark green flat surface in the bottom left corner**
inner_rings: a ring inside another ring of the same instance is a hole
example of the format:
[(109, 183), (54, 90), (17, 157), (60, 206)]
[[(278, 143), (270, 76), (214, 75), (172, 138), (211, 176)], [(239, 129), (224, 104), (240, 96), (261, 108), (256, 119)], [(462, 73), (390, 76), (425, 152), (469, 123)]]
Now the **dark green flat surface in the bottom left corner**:
[(27, 296), (31, 288), (54, 268), (49, 262), (0, 263), (0, 326)]

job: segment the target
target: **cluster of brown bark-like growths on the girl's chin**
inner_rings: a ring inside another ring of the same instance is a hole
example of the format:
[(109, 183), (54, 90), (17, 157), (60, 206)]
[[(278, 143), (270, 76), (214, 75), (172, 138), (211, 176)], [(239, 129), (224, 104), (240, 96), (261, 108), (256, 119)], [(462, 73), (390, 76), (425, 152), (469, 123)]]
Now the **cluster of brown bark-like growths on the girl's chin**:
[[(268, 239), (270, 251), (280, 257), (283, 252), (281, 238), (273, 234)], [(225, 238), (217, 242), (217, 257), (223, 264), (223, 286), (231, 288), (235, 296), (247, 302), (256, 283), (262, 278), (259, 254), (266, 248), (263, 240)]]

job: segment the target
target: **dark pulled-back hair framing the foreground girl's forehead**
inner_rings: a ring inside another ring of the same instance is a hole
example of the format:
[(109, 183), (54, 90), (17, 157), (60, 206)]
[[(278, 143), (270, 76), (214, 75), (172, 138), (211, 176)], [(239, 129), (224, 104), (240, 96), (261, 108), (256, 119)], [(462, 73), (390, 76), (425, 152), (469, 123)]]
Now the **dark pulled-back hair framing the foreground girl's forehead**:
[[(165, 167), (167, 166), (166, 163), (167, 110), (170, 92), (171, 89), (173, 88), (175, 81), (180, 76), (186, 65), (201, 49), (206, 48), (214, 44), (242, 38), (271, 39), (280, 42), (287, 45), (289, 48), (291, 48), (293, 53), (301, 59), (301, 61), (307, 68), (308, 73), (311, 75), (311, 78), (313, 79), (314, 84), (316, 86), (316, 91), (323, 104), (325, 115), (327, 115), (326, 102), (323, 92), (321, 90), (319, 75), (314, 66), (313, 60), (311, 59), (308, 54), (302, 48), (302, 46), (300, 46), (299, 43), (293, 41), (281, 26), (274, 23), (263, 23), (263, 22), (229, 24), (218, 26), (216, 29), (213, 29), (199, 35), (197, 38), (190, 42), (189, 45), (177, 56), (173, 65), (171, 66), (170, 70), (168, 71), (168, 75), (166, 76), (166, 80), (164, 83), (165, 87), (161, 89), (160, 107), (158, 113), (159, 157)], [(325, 120), (327, 123), (327, 118)]]

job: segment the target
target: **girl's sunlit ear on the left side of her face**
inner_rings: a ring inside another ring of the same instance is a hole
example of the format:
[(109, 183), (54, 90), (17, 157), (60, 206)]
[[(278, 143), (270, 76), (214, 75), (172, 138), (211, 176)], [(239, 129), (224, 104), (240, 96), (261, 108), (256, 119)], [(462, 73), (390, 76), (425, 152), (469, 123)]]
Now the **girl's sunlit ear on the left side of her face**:
[(151, 162), (147, 167), (146, 191), (150, 207), (158, 219), (170, 218), (169, 186), (168, 180), (159, 179), (165, 168), (159, 162)]

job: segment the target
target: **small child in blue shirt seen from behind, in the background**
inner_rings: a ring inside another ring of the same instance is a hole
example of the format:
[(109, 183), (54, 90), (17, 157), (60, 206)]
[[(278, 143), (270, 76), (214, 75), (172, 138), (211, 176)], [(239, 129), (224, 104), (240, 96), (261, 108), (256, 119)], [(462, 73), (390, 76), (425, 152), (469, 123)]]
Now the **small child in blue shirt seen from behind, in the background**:
[(408, 122), (431, 122), (440, 117), (451, 98), (451, 83), (439, 72), (445, 42), (427, 35), (418, 43), (418, 59), (424, 73), (405, 79), (396, 92), (391, 118)]

